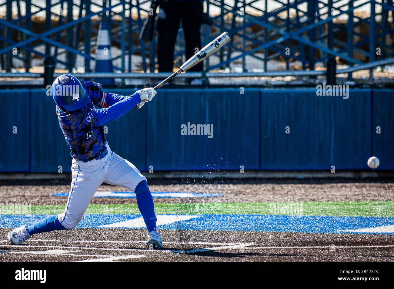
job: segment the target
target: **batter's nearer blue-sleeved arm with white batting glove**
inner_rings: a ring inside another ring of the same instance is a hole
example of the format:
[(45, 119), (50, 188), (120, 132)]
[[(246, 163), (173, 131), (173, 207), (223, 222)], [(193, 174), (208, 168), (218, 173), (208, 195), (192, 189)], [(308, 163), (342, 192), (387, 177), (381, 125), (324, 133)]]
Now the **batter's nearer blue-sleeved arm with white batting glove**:
[(122, 100), (117, 101), (107, 108), (95, 109), (96, 125), (105, 125), (120, 118), (121, 116), (124, 116), (139, 103), (151, 101), (155, 94), (156, 90), (153, 88), (144, 88), (142, 90), (138, 90), (131, 96), (122, 96)]

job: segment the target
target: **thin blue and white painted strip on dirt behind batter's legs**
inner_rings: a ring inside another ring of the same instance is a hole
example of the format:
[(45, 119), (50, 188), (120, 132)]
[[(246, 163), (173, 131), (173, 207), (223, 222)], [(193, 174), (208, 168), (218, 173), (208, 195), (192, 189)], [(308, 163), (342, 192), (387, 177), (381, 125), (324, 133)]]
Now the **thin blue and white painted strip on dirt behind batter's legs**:
[[(182, 191), (152, 191), (154, 198), (202, 198), (202, 197), (220, 197), (216, 193), (194, 193)], [(53, 193), (52, 197), (68, 197), (69, 193)], [(95, 198), (135, 198), (136, 194), (132, 191), (97, 191), (93, 196)]]

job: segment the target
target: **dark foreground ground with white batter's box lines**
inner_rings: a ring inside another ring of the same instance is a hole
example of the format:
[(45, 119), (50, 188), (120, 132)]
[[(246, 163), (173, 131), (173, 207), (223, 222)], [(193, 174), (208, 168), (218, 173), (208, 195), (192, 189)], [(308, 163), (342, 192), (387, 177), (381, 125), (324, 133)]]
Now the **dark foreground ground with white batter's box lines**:
[[(7, 230), (0, 229), (0, 236)], [(161, 231), (150, 251), (145, 230), (75, 229), (0, 242), (0, 261), (392, 261), (394, 237), (359, 234)]]

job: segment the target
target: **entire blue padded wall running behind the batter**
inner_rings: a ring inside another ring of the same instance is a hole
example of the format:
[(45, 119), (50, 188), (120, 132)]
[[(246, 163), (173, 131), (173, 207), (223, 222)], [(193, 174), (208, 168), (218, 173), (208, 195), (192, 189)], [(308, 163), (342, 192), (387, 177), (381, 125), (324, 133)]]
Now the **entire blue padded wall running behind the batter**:
[[(107, 141), (141, 171), (368, 169), (372, 155), (378, 169), (394, 169), (393, 92), (353, 89), (343, 99), (317, 96), (313, 88), (163, 89), (143, 109), (108, 124)], [(1, 90), (0, 101), (0, 172), (71, 171), (46, 90)], [(213, 131), (181, 134), (182, 125), (193, 124)]]

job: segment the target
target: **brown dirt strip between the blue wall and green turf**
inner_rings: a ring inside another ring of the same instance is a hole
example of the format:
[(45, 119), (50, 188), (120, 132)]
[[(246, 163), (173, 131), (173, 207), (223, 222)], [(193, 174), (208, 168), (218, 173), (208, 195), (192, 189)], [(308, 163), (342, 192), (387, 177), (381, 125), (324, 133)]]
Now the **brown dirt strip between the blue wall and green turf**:
[[(149, 181), (151, 191), (186, 191), (220, 193), (216, 198), (199, 198), (199, 202), (301, 202), (301, 201), (393, 201), (392, 180), (210, 180)], [(52, 193), (69, 192), (67, 181), (2, 180), (0, 202), (33, 205), (65, 204), (67, 197)], [(128, 191), (121, 186), (102, 184), (99, 191)], [(155, 199), (156, 203), (194, 202), (187, 199)], [(91, 204), (135, 203), (135, 199), (93, 198)]]

